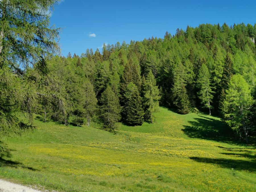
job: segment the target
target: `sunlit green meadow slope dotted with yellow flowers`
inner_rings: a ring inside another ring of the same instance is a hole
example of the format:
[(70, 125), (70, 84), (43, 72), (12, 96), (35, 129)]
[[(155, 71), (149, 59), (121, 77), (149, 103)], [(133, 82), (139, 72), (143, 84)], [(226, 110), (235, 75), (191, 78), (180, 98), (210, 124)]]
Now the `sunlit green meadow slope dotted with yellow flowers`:
[(116, 135), (36, 121), (9, 139), (0, 177), (59, 191), (256, 191), (255, 146), (219, 118), (160, 108), (156, 120)]

